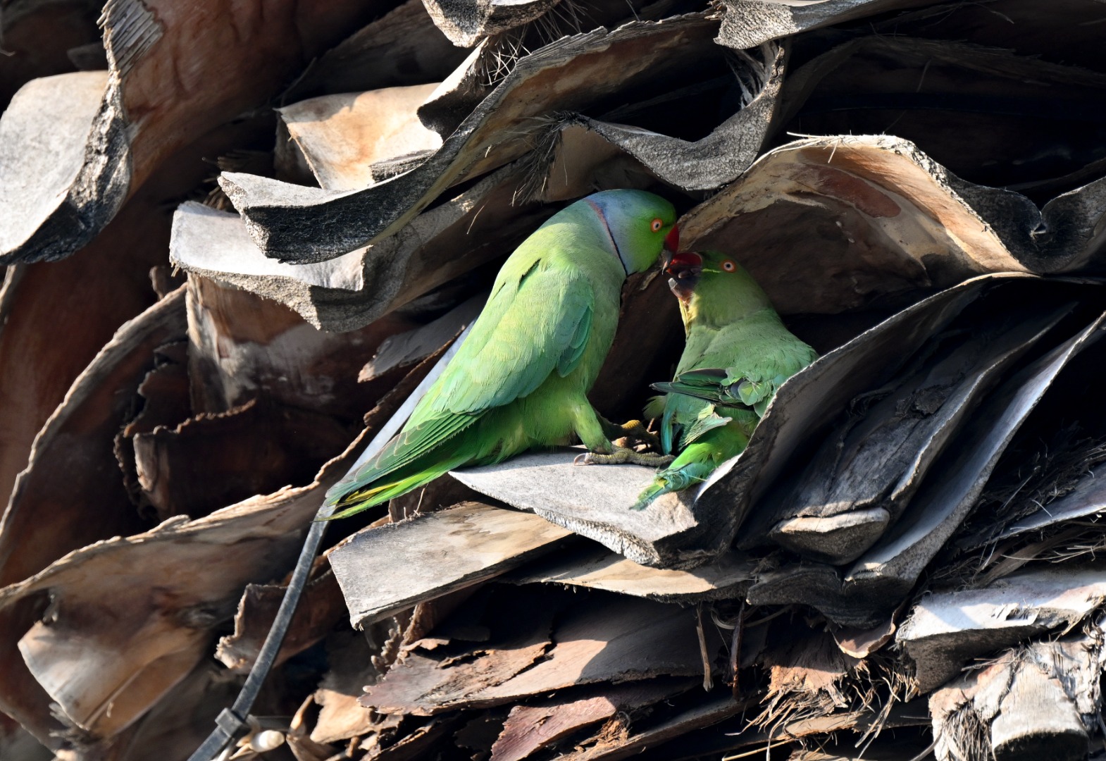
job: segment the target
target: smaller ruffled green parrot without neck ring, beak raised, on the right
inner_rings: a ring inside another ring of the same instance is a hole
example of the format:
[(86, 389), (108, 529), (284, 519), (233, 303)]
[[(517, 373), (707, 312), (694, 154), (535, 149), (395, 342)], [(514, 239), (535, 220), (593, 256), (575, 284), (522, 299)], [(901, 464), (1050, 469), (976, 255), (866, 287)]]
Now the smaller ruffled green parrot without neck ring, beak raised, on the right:
[(740, 455), (784, 380), (817, 358), (772, 309), (768, 294), (724, 253), (684, 252), (665, 272), (680, 300), (687, 343), (676, 378), (654, 384), (647, 418), (660, 418), (661, 449), (676, 459), (638, 497), (641, 510), (660, 494), (706, 480)]

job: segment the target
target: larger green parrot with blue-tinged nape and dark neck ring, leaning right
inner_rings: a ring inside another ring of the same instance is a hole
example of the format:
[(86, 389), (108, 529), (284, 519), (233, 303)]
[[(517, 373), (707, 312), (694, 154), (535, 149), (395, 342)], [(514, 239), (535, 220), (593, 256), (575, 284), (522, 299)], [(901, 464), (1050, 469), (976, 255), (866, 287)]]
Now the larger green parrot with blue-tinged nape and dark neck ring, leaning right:
[[(410, 419), (326, 492), (344, 518), (462, 466), (570, 444), (615, 451), (626, 432), (587, 400), (614, 341), (622, 286), (679, 251), (672, 205), (643, 190), (605, 190), (562, 209), (508, 258), (468, 338)], [(657, 456), (632, 461), (657, 465)]]

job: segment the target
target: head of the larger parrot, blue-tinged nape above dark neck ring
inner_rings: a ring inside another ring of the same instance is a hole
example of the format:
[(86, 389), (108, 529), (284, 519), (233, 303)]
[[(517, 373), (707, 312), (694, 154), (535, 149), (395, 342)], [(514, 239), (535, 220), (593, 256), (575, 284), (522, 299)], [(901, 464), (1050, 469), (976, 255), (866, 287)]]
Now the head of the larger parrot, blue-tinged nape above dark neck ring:
[(626, 274), (645, 272), (680, 248), (676, 209), (645, 190), (604, 190), (583, 199), (595, 211)]

